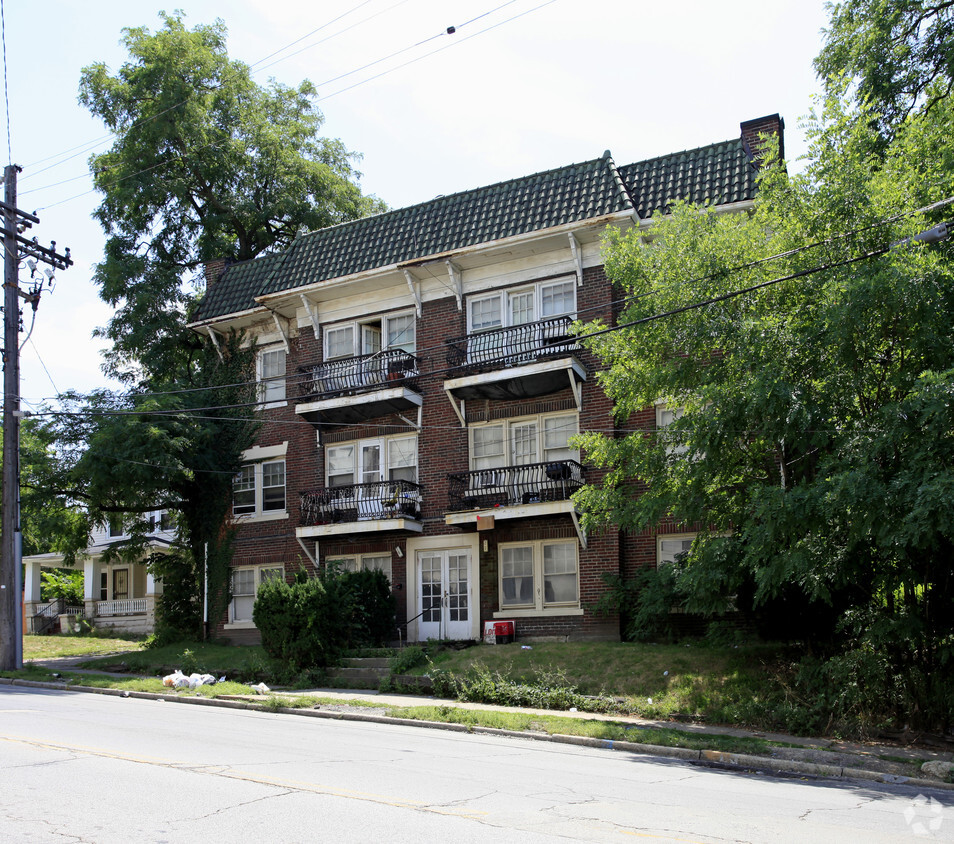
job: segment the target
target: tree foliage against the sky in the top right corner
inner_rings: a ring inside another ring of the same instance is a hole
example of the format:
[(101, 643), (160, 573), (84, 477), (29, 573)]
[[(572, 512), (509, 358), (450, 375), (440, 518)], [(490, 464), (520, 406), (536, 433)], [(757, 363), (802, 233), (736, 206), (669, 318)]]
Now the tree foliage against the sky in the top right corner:
[(883, 127), (950, 96), (954, 2), (846, 0), (829, 9), (831, 25), (815, 69), (830, 90), (853, 83)]

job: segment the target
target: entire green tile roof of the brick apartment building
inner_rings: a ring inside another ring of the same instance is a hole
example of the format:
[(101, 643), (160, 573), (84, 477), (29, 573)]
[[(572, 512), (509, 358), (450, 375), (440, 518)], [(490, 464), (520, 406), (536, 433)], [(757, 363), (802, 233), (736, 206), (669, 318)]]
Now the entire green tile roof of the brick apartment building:
[(581, 164), (442, 196), (299, 237), (281, 255), (232, 264), (206, 293), (197, 320), (257, 307), (256, 296), (452, 252), (675, 199), (723, 204), (754, 195), (741, 140), (617, 168), (609, 153)]

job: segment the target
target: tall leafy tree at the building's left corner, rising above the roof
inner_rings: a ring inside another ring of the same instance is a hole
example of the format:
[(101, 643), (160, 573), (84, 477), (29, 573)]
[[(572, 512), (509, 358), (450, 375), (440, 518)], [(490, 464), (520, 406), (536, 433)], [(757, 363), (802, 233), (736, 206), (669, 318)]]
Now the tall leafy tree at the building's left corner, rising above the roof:
[(233, 336), (219, 355), (187, 328), (203, 264), (278, 251), (382, 205), (355, 184), (354, 154), (319, 137), (311, 83), (259, 85), (229, 58), (222, 21), (160, 18), (156, 32), (123, 30), (129, 60), (115, 73), (97, 63), (80, 81), (80, 102), (115, 136), (90, 160), (107, 234), (95, 278), (114, 309), (99, 330), (112, 344), (104, 368), (127, 390), (66, 397), (50, 487), (89, 523), (123, 518), (131, 538), (115, 554), (145, 552), (143, 514), (179, 514), (180, 546), (150, 565), (165, 583), (161, 624), (192, 635), (206, 571), (210, 618), (229, 601), (232, 478), (256, 430), (253, 350)]

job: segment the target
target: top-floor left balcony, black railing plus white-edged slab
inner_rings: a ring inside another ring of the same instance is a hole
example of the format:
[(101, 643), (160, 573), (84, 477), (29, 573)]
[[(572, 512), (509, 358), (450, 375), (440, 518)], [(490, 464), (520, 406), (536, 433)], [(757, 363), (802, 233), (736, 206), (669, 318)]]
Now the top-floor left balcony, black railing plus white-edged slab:
[(295, 411), (316, 427), (352, 425), (421, 406), (417, 358), (403, 349), (299, 367)]

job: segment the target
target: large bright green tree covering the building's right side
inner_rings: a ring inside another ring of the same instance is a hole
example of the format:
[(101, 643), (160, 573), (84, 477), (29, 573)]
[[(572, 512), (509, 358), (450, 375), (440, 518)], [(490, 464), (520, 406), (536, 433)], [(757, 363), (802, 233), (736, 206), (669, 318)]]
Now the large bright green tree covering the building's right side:
[(887, 146), (838, 99), (808, 129), (805, 172), (767, 167), (752, 214), (679, 206), (649, 246), (610, 234), (632, 299), (586, 341), (600, 380), (621, 422), (658, 401), (684, 413), (584, 435), (609, 474), (579, 502), (591, 528), (698, 528), (674, 578), (689, 610), (734, 596), (789, 610), (790, 635), (829, 654), (877, 649), (910, 680), (891, 700), (936, 725), (954, 658), (954, 263), (950, 241), (892, 244), (954, 194), (954, 102)]

